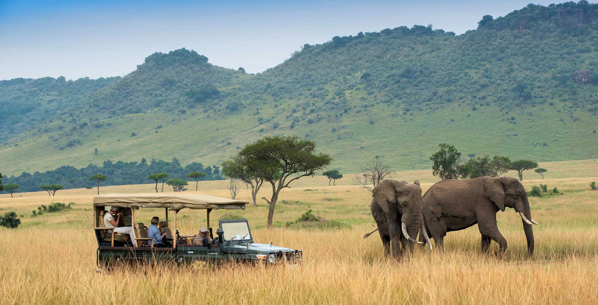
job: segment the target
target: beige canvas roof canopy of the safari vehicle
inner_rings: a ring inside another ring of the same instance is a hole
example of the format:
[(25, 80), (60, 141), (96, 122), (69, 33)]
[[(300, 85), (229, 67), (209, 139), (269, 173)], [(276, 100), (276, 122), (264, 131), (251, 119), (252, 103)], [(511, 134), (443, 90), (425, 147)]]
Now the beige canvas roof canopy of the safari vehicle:
[(94, 206), (122, 208), (245, 209), (249, 202), (202, 194), (106, 194), (93, 197)]

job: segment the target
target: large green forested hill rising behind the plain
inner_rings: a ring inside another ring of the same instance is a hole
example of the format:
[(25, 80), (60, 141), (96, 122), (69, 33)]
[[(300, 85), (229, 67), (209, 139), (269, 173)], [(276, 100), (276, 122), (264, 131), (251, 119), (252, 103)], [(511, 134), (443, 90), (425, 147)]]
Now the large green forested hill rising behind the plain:
[(586, 1), (530, 4), (481, 16), (458, 36), (417, 25), (335, 36), (257, 75), (195, 51), (155, 53), (5, 139), (2, 172), (142, 156), (219, 164), (280, 134), (316, 141), (335, 157), (332, 167), (353, 172), (374, 155), (396, 169), (429, 167), (441, 142), (538, 161), (594, 158), (597, 16)]

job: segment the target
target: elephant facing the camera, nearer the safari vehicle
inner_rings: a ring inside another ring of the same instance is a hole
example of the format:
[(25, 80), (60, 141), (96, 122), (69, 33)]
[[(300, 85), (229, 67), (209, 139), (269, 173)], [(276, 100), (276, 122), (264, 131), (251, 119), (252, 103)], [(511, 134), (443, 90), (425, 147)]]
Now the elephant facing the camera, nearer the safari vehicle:
[(417, 238), (420, 228), (432, 249), (432, 243), (423, 230), (423, 199), (419, 181), (408, 184), (406, 181), (383, 180), (374, 188), (372, 197), (370, 209), (386, 255), (390, 254), (391, 245), (396, 258), (402, 257), (404, 251), (413, 251), (413, 243), (423, 243), (413, 238)]

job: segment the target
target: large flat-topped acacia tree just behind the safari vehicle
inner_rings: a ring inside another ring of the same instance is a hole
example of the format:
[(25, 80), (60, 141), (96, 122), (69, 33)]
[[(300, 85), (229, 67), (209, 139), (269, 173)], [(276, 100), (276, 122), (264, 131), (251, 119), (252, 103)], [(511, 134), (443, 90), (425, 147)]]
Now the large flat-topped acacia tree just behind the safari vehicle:
[(328, 154), (316, 153), (313, 141), (301, 140), (295, 136), (266, 136), (253, 144), (246, 145), (233, 161), (246, 167), (255, 176), (270, 182), (272, 196), (266, 197), (269, 205), (268, 227), (272, 227), (274, 206), (280, 191), (291, 182), (313, 176), (332, 161)]

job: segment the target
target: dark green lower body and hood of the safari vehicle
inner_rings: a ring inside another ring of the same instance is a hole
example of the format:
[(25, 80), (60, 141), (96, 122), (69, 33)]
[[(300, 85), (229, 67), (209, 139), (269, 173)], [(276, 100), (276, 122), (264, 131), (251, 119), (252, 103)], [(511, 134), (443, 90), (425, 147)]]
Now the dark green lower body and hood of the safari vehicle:
[[(245, 228), (248, 236), (226, 237), (231, 227)], [(303, 261), (303, 252), (297, 249), (283, 248), (263, 243), (256, 243), (251, 235), (247, 219), (221, 220), (217, 236), (212, 243), (203, 245), (177, 243), (176, 248), (150, 248), (111, 246), (97, 234), (97, 266), (107, 267), (113, 263), (157, 263), (158, 261), (174, 261), (177, 264), (193, 264), (205, 261), (208, 264), (224, 262), (260, 263), (260, 264), (297, 264)], [(236, 238), (237, 237), (237, 238)], [(244, 238), (243, 238), (244, 237)], [(236, 238), (236, 239), (235, 239)]]

